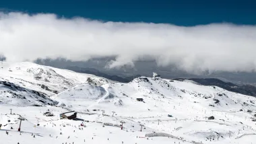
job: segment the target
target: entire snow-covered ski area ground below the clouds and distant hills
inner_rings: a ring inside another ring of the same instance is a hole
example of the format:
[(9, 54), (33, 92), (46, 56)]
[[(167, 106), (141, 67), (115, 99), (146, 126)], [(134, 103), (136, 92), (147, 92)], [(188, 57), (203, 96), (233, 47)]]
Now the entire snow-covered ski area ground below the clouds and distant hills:
[[(1, 65), (0, 143), (255, 143), (251, 96), (193, 81), (139, 77), (118, 83), (34, 63)], [(44, 116), (48, 110), (55, 116)], [(69, 110), (79, 119), (59, 118)], [(86, 127), (79, 127), (82, 122)], [(162, 137), (146, 137), (151, 133)]]

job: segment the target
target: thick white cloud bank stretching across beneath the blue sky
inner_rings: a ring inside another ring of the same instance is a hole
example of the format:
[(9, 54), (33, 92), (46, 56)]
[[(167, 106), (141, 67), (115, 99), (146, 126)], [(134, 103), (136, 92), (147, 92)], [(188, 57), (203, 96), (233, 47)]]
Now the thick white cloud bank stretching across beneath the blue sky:
[(0, 13), (0, 53), (8, 61), (116, 56), (108, 67), (143, 57), (158, 65), (200, 71), (254, 71), (256, 26), (100, 22), (54, 14)]

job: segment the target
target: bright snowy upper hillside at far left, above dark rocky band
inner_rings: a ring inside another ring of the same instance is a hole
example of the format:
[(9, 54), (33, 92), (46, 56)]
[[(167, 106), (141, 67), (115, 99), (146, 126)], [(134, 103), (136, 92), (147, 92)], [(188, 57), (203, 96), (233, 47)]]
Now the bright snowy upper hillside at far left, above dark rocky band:
[(17, 85), (30, 87), (49, 96), (75, 85), (86, 83), (89, 77), (98, 85), (107, 82), (102, 77), (46, 67), (30, 62), (0, 63), (0, 73), (0, 80), (3, 79)]

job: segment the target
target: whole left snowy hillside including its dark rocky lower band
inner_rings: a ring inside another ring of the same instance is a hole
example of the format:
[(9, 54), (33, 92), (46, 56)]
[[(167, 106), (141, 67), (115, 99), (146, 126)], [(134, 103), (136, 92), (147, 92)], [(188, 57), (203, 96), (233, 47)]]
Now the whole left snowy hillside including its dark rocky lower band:
[[(37, 103), (40, 105), (52, 104), (53, 102), (49, 102), (52, 101), (49, 98), (50, 96), (54, 96), (65, 89), (82, 83), (92, 83), (94, 85), (108, 83), (107, 79), (94, 75), (75, 73), (69, 70), (56, 69), (29, 62), (1, 62), (0, 81), (2, 81), (1, 83), (11, 83), (12, 85), (12, 88), (7, 88), (6, 85), (5, 87), (3, 85), (0, 87), (0, 92), (5, 94), (1, 94), (1, 102), (17, 104), (19, 106), (30, 106)], [(19, 88), (15, 89), (15, 87)], [(16, 97), (16, 100), (9, 100), (7, 96), (9, 98)], [(19, 102), (17, 101), (18, 97), (23, 99), (20, 99)]]

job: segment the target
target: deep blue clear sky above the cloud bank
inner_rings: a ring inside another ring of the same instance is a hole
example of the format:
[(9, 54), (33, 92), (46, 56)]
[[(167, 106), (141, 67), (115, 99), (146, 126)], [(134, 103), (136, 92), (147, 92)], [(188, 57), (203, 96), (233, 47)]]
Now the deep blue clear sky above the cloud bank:
[(153, 22), (178, 26), (228, 22), (256, 24), (255, 0), (43, 0), (1, 1), (2, 11), (55, 13), (64, 17), (86, 17), (113, 22)]

